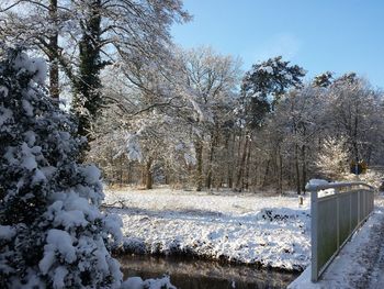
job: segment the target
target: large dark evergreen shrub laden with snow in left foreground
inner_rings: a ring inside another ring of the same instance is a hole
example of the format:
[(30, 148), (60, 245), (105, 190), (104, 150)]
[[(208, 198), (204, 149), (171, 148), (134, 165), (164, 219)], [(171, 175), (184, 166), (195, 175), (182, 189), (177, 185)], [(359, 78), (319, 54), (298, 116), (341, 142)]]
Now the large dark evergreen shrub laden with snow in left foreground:
[(117, 288), (121, 221), (99, 211), (98, 168), (44, 93), (45, 63), (10, 49), (0, 62), (0, 288)]

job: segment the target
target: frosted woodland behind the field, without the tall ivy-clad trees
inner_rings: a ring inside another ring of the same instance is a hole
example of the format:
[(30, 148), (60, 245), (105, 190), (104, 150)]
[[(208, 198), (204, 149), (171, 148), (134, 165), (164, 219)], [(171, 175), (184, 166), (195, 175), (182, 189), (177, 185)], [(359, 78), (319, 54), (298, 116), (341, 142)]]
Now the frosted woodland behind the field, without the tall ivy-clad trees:
[(350, 178), (353, 162), (382, 165), (382, 92), (358, 75), (305, 82), (282, 57), (242, 75), (212, 48), (173, 55), (168, 73), (129, 75), (142, 88), (103, 85), (120, 101), (104, 110), (89, 157), (111, 184), (302, 193), (310, 178)]

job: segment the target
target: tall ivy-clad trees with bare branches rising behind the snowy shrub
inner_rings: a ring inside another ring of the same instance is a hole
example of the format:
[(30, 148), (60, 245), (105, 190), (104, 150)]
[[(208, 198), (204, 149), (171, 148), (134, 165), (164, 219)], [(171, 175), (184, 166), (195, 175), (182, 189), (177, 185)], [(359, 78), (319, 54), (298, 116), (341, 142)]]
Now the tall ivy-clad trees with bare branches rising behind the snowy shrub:
[(172, 23), (190, 19), (180, 0), (13, 0), (1, 4), (0, 14), (2, 38), (47, 56), (56, 98), (59, 64), (74, 88), (79, 133), (89, 137), (105, 104), (99, 92), (105, 65), (129, 62), (127, 55), (160, 59), (171, 44)]

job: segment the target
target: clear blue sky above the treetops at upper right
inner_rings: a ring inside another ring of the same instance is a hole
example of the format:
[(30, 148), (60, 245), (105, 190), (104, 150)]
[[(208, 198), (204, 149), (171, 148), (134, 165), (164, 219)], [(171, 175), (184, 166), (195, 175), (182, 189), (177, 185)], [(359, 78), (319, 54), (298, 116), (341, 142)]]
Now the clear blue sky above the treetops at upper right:
[(193, 20), (174, 25), (173, 40), (240, 56), (248, 70), (282, 55), (308, 77), (355, 71), (384, 88), (382, 0), (184, 0)]

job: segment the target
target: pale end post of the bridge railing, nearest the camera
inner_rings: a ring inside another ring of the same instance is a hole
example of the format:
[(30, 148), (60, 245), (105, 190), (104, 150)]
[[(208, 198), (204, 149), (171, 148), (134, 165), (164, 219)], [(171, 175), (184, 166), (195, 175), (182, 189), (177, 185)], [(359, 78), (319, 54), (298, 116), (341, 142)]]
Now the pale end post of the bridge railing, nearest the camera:
[(310, 191), (310, 238), (312, 238), (312, 281), (318, 279), (318, 262), (317, 262), (317, 190)]

